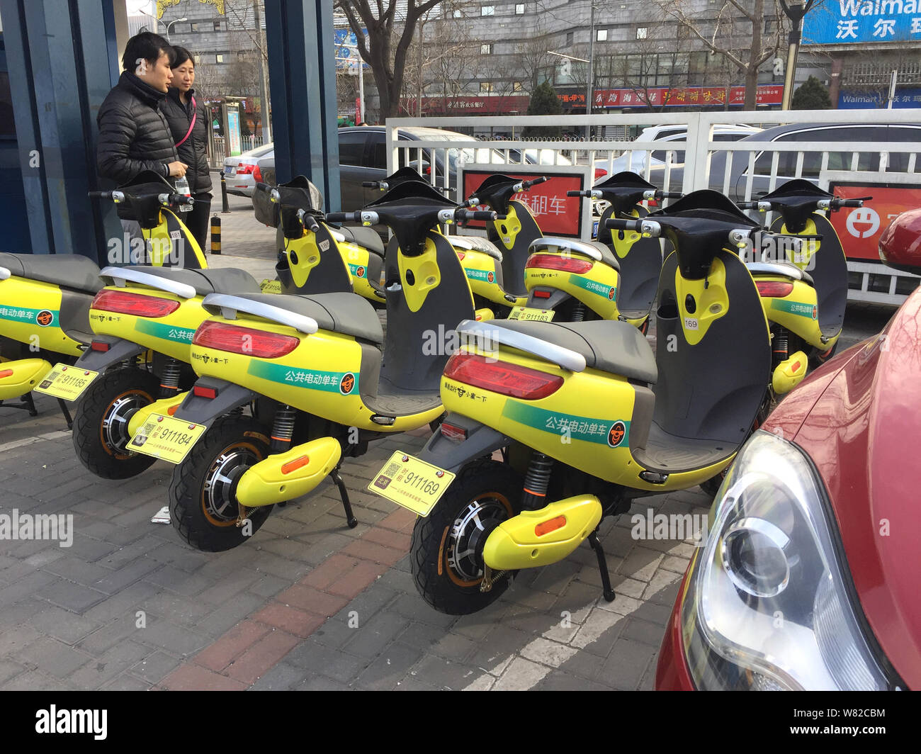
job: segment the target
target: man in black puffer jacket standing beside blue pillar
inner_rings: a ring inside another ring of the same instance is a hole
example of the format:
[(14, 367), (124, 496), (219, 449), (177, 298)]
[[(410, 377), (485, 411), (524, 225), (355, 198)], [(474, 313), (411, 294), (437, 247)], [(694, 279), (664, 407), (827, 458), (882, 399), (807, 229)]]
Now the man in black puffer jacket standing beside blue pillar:
[(157, 34), (135, 34), (122, 55), (124, 71), (99, 107), (96, 167), (103, 178), (127, 183), (141, 171), (185, 175), (169, 124), (160, 112), (172, 71), (172, 48)]

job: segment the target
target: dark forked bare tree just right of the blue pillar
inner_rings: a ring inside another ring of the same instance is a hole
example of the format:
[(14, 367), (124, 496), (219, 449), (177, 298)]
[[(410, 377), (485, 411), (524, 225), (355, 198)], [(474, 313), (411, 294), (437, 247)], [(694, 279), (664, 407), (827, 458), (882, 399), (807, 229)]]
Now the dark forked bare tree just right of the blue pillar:
[[(337, 0), (349, 28), (355, 32), (358, 54), (371, 66), (380, 98), (380, 120), (400, 108), (406, 53), (419, 19), (441, 0)], [(373, 7), (372, 7), (373, 6)], [(398, 6), (405, 15), (397, 18)], [(394, 22), (402, 32), (394, 34)], [(365, 36), (367, 29), (367, 38)], [(393, 44), (393, 41), (396, 44)]]

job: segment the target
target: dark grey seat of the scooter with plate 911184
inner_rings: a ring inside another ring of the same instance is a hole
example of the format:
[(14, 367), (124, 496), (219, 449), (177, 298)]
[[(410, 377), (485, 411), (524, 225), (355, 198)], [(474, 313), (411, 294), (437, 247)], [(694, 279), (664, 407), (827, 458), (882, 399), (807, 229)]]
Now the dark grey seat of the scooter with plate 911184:
[(322, 330), (355, 336), (371, 343), (382, 344), (384, 331), (378, 312), (357, 293), (277, 294), (242, 293), (240, 299), (259, 301), (277, 306), (287, 312), (310, 317)]

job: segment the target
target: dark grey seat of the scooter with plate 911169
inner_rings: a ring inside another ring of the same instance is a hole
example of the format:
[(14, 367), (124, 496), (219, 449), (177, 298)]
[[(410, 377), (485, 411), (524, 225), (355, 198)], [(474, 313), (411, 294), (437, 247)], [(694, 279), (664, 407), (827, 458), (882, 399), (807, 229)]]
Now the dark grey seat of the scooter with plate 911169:
[(629, 380), (653, 384), (659, 379), (656, 357), (646, 337), (633, 325), (616, 320), (593, 322), (491, 322), (507, 330), (538, 337), (585, 357), (587, 367)]

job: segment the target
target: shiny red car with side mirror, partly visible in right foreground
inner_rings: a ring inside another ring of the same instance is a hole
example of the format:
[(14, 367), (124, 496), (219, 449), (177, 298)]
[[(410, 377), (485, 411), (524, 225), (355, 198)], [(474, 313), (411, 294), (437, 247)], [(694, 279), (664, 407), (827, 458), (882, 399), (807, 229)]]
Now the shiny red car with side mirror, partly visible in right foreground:
[[(921, 275), (921, 209), (880, 242)], [(921, 289), (747, 442), (684, 574), (657, 689), (921, 689)]]

